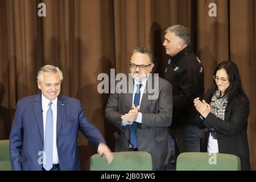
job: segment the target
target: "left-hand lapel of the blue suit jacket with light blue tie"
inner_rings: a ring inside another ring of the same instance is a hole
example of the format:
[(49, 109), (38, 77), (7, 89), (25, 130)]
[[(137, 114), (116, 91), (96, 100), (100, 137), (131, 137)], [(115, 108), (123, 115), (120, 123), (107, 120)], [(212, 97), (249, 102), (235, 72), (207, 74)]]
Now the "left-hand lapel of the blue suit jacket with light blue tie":
[(35, 112), (36, 122), (38, 123), (40, 135), (42, 137), (42, 140), (44, 140), (42, 93), (36, 95), (36, 97), (35, 97), (34, 112)]

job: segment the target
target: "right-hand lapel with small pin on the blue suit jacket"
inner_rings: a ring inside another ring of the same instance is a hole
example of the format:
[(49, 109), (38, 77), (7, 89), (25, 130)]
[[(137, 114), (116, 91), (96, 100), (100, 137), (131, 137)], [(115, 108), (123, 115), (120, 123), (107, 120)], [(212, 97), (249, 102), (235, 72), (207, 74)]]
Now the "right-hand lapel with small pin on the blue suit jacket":
[(65, 111), (64, 98), (63, 98), (63, 96), (59, 95), (58, 101), (57, 101), (57, 133), (56, 133), (56, 137), (59, 135), (61, 126), (63, 125), (64, 111)]

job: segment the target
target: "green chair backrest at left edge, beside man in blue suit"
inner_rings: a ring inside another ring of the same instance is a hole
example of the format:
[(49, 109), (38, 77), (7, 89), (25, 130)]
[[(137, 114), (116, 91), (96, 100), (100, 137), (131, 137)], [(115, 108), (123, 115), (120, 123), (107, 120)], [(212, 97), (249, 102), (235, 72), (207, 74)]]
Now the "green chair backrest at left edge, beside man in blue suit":
[(0, 171), (11, 170), (9, 140), (0, 140)]

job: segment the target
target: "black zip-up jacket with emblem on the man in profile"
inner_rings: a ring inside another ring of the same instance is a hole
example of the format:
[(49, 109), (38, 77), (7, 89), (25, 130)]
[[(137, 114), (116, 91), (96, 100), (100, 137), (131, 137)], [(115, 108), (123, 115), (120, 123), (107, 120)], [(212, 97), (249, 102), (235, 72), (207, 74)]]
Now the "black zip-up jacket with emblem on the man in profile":
[(204, 69), (190, 46), (170, 57), (166, 63), (164, 78), (173, 88), (174, 110), (171, 126), (197, 125), (197, 111), (193, 100), (204, 94)]

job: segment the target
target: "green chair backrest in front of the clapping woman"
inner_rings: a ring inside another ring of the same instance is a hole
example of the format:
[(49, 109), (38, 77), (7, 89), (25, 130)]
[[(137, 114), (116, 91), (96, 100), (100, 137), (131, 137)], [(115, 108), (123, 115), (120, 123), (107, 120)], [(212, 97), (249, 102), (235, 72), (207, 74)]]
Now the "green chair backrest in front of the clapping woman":
[(240, 171), (240, 158), (232, 154), (184, 152), (177, 157), (177, 171)]

